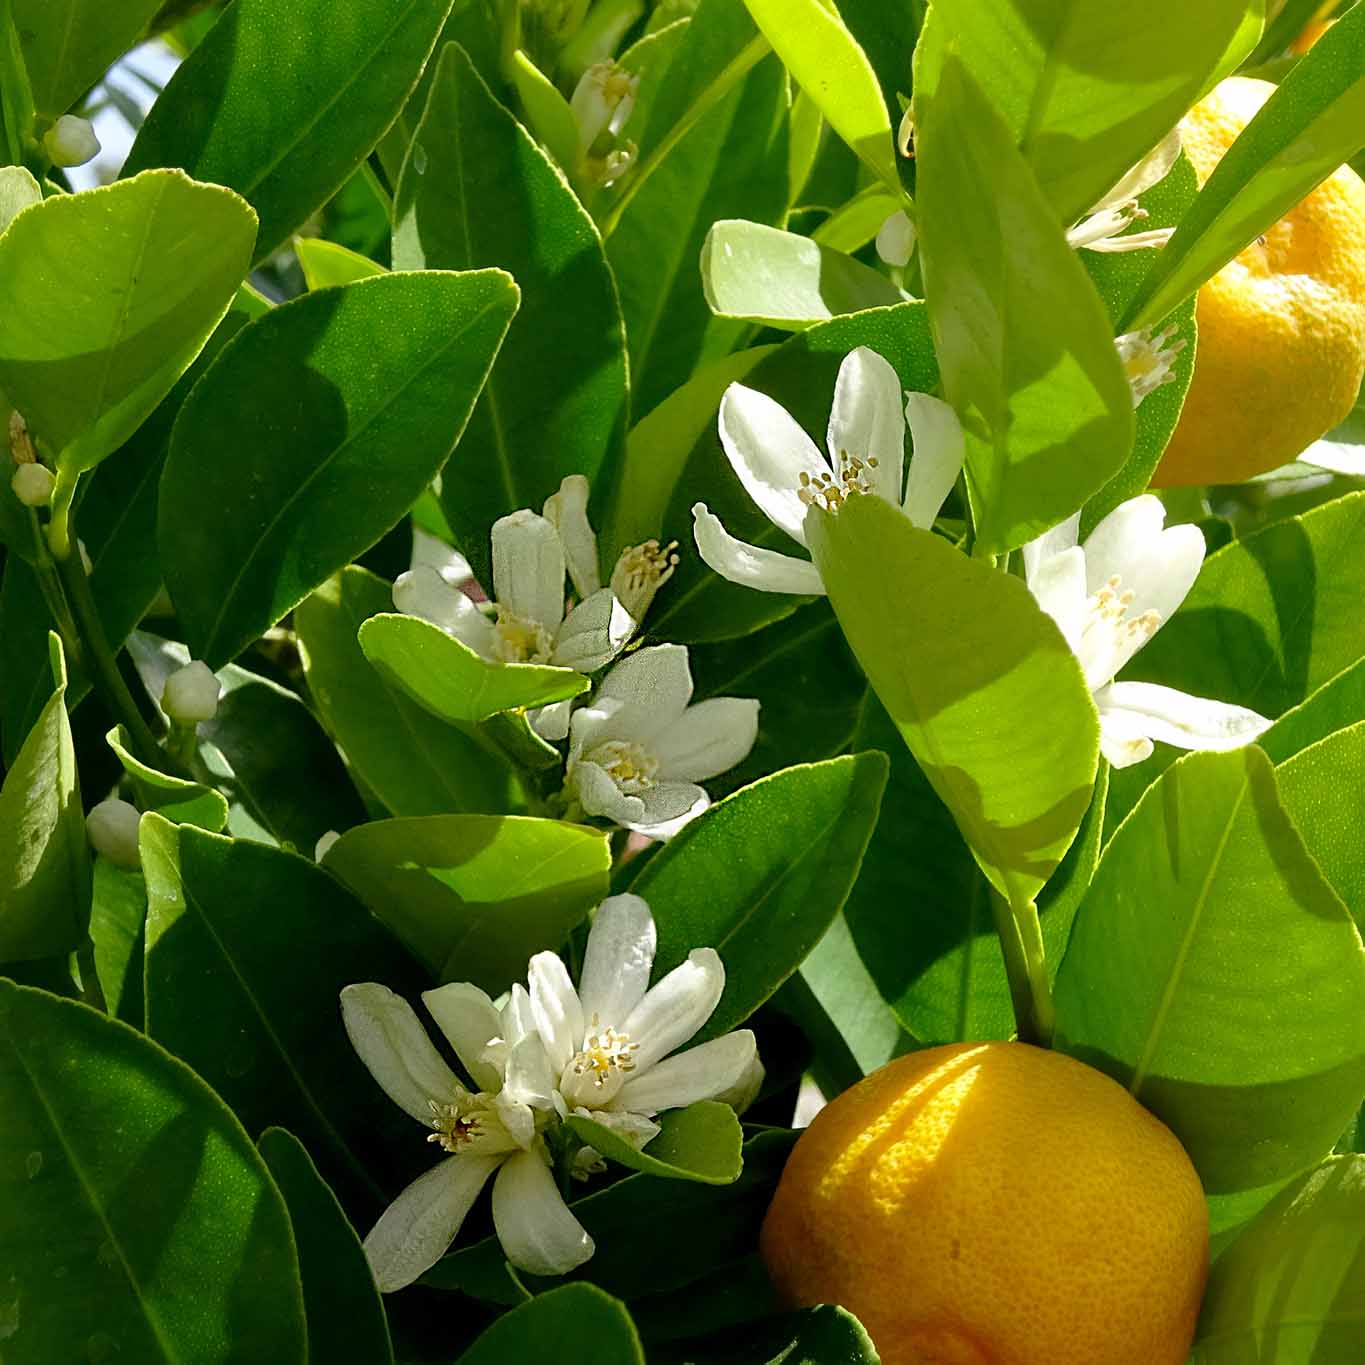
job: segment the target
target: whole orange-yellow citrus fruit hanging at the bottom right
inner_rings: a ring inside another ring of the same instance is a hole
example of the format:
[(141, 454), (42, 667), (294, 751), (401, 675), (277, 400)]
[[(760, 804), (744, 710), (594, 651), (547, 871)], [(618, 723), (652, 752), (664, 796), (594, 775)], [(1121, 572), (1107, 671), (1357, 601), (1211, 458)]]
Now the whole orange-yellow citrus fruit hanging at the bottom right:
[(961, 1043), (816, 1115), (762, 1250), (790, 1304), (856, 1313), (882, 1365), (1183, 1365), (1208, 1213), (1181, 1144), (1115, 1081)]

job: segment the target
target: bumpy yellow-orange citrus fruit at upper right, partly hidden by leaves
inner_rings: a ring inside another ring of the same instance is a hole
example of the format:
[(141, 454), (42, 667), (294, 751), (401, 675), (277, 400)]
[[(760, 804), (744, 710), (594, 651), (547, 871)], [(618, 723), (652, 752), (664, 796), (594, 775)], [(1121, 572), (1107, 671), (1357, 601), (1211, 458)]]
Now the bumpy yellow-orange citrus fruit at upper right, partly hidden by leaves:
[[(1185, 119), (1203, 184), (1275, 91), (1233, 76)], [(1158, 486), (1289, 464), (1350, 412), (1365, 374), (1365, 183), (1327, 177), (1200, 291), (1198, 352)]]

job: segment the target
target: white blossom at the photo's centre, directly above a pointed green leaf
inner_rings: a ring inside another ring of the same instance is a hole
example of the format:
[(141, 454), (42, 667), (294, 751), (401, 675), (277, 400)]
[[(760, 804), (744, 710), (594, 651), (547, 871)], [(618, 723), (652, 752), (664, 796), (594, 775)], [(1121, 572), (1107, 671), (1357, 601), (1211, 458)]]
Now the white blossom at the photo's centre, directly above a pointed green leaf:
[(698, 786), (738, 763), (758, 737), (759, 703), (717, 696), (696, 706), (687, 650), (657, 644), (622, 659), (573, 713), (565, 793), (588, 815), (669, 838), (700, 815)]

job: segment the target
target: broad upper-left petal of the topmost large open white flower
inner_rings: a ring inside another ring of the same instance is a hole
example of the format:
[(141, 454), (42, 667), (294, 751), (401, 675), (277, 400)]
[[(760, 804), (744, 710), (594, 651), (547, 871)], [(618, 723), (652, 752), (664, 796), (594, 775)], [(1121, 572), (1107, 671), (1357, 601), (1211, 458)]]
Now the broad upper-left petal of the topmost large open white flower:
[(781, 403), (743, 384), (732, 384), (721, 399), (719, 431), (744, 491), (775, 527), (805, 545), (801, 475), (830, 474), (815, 442)]

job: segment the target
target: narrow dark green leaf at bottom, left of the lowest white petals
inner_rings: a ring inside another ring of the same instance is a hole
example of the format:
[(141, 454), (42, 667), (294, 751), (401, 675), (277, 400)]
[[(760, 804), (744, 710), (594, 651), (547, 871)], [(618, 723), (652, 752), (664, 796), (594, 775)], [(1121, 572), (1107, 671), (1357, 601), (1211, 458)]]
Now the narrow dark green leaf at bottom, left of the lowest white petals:
[(308, 1323), (310, 1365), (364, 1361), (392, 1365), (384, 1304), (360, 1241), (303, 1144), (283, 1127), (268, 1127), (257, 1148), (274, 1178), (293, 1224)]

